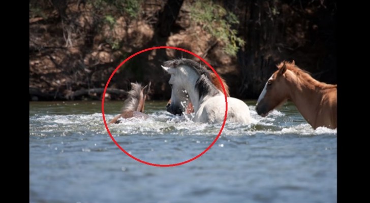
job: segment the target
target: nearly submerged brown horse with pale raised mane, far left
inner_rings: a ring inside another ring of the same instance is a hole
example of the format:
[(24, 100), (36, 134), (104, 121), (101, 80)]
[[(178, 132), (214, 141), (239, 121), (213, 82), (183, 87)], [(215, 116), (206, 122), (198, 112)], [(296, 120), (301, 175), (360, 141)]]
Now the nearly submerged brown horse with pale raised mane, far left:
[(131, 90), (128, 92), (128, 97), (124, 101), (121, 114), (116, 115), (108, 124), (119, 123), (119, 118), (144, 118), (147, 119), (148, 115), (144, 114), (145, 100), (150, 90), (149, 82), (145, 87), (140, 83), (130, 83)]

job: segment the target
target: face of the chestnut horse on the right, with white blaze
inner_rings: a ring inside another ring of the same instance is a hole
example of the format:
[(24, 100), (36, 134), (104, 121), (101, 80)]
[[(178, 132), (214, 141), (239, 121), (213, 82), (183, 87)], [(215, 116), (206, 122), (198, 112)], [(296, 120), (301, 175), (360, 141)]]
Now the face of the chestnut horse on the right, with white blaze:
[(258, 97), (256, 111), (257, 114), (265, 117), (270, 111), (283, 105), (289, 96), (289, 89), (285, 78), (285, 64), (280, 70), (272, 74)]

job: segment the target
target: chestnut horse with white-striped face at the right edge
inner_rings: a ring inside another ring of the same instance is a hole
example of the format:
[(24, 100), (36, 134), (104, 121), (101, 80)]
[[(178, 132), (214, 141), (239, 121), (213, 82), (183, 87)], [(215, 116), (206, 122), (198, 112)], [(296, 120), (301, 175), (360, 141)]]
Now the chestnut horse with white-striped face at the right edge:
[(257, 100), (257, 114), (265, 117), (288, 99), (314, 128), (335, 129), (336, 85), (319, 82), (292, 62), (283, 61), (267, 80)]

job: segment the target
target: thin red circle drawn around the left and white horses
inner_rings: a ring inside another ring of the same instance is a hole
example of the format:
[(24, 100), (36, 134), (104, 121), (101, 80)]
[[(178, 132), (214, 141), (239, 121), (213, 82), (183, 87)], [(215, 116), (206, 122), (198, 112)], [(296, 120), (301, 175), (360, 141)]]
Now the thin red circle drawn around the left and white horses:
[(222, 126), (221, 126), (221, 129), (220, 129), (220, 132), (219, 134), (217, 135), (217, 137), (213, 140), (213, 142), (207, 147), (207, 149), (205, 149), (203, 152), (201, 152), (200, 154), (198, 154), (197, 156), (189, 159), (189, 160), (186, 160), (186, 161), (183, 161), (183, 162), (179, 162), (179, 163), (173, 163), (173, 164), (156, 164), (156, 163), (150, 163), (150, 162), (146, 162), (146, 161), (143, 161), (141, 159), (138, 159), (136, 157), (134, 157), (133, 155), (129, 154), (126, 150), (124, 150), (124, 148), (122, 148), (121, 146), (119, 146), (119, 144), (114, 140), (112, 134), (110, 133), (109, 131), (109, 128), (108, 128), (108, 125), (107, 125), (107, 122), (105, 120), (105, 115), (104, 115), (104, 96), (102, 96), (102, 115), (103, 115), (103, 120), (104, 120), (104, 125), (105, 125), (105, 128), (107, 129), (108, 131), (108, 134), (110, 136), (110, 138), (113, 140), (114, 144), (120, 149), (122, 150), (122, 152), (124, 152), (126, 155), (130, 156), (131, 158), (141, 162), (141, 163), (145, 163), (145, 164), (148, 164), (148, 165), (152, 165), (152, 166), (159, 166), (159, 167), (170, 167), (170, 166), (176, 166), (176, 165), (182, 165), (182, 164), (185, 164), (185, 163), (188, 163), (190, 161), (193, 161), (197, 158), (199, 158), (200, 156), (202, 156), (204, 153), (206, 153), (213, 145), (214, 143), (219, 139), (220, 135), (221, 135), (221, 132), (222, 130), (224, 129), (224, 126), (225, 126), (225, 122), (226, 122), (226, 117), (227, 117), (227, 96), (226, 96), (226, 90), (225, 90), (225, 87), (224, 87), (224, 84), (222, 83), (221, 81), (221, 78), (219, 76), (219, 74), (217, 74), (217, 72), (213, 69), (213, 67), (207, 62), (205, 61), (202, 57), (198, 56), (197, 54), (191, 52), (191, 51), (188, 51), (186, 49), (181, 49), (181, 48), (178, 48), (178, 47), (170, 47), (170, 46), (160, 46), (160, 47), (151, 47), (151, 48), (148, 48), (148, 49), (144, 49), (144, 50), (141, 50), (141, 51), (138, 51), (136, 53), (134, 53), (133, 55), (129, 56), (128, 58), (126, 58), (123, 62), (121, 62), (117, 67), (116, 69), (113, 71), (112, 75), (109, 77), (108, 79), (108, 82), (107, 84), (105, 85), (105, 88), (104, 88), (104, 92), (103, 92), (103, 95), (105, 95), (105, 92), (107, 91), (107, 88), (108, 88), (108, 85), (109, 85), (109, 82), (110, 80), (112, 79), (113, 75), (117, 72), (117, 70), (119, 69), (120, 66), (122, 66), (124, 63), (126, 63), (128, 60), (130, 60), (132, 57), (138, 55), (138, 54), (141, 54), (143, 52), (146, 52), (146, 51), (150, 51), (150, 50), (153, 50), (153, 49), (176, 49), (176, 50), (180, 50), (180, 51), (183, 51), (183, 52), (187, 52), (189, 54), (192, 54), (193, 56), (199, 58), (200, 60), (202, 60), (205, 64), (208, 65), (208, 67), (210, 67), (210, 69), (213, 71), (214, 74), (216, 74), (217, 78), (219, 79), (220, 83), (221, 83), (221, 86), (222, 86), (222, 90), (224, 91), (224, 95), (225, 95), (225, 118), (224, 118), (224, 122), (222, 123)]

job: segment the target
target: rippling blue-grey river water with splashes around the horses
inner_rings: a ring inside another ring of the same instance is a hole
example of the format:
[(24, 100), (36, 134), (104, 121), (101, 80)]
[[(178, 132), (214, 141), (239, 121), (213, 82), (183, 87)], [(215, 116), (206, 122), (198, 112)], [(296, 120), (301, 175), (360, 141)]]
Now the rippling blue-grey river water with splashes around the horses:
[[(99, 101), (30, 103), (31, 202), (336, 202), (337, 133), (313, 130), (288, 103), (266, 118), (246, 101), (254, 121), (226, 123), (198, 159), (174, 167), (140, 163), (105, 129)], [(109, 130), (143, 161), (173, 164), (202, 153), (220, 124), (167, 113), (147, 101), (147, 120)], [(105, 104), (107, 121), (122, 102)]]

